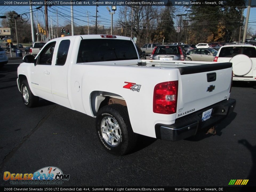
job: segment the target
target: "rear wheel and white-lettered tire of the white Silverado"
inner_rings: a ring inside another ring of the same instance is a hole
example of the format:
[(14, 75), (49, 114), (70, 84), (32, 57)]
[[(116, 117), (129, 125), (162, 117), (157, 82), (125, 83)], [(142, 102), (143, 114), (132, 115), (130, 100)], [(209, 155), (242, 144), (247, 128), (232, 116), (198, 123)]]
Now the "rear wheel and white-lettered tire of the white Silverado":
[(127, 107), (120, 104), (106, 105), (98, 111), (96, 132), (102, 146), (113, 155), (131, 152), (137, 142)]

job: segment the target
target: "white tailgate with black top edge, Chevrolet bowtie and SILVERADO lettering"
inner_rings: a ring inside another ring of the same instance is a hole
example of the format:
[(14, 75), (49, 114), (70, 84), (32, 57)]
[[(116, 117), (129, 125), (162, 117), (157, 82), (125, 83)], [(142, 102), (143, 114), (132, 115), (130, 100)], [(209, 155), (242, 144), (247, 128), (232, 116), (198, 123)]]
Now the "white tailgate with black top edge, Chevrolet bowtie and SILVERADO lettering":
[[(177, 67), (179, 87), (176, 118), (229, 98), (232, 63)], [(211, 113), (206, 111), (206, 114)]]

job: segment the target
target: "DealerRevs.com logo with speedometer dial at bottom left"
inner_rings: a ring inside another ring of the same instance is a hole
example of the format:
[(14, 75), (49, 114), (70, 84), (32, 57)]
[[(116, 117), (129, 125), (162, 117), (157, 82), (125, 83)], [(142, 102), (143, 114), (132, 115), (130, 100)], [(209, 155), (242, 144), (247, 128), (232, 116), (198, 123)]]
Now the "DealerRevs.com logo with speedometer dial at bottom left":
[(3, 173), (3, 180), (10, 181), (12, 185), (60, 185), (68, 181), (70, 175), (63, 174), (57, 167), (44, 167), (34, 173)]

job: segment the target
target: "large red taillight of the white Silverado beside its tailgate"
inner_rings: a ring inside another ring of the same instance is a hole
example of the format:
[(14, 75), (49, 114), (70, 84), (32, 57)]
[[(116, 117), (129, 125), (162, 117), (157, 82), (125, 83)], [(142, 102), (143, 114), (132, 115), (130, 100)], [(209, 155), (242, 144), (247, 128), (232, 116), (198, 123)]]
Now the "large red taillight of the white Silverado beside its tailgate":
[(178, 81), (158, 83), (154, 88), (153, 112), (173, 114), (177, 110)]

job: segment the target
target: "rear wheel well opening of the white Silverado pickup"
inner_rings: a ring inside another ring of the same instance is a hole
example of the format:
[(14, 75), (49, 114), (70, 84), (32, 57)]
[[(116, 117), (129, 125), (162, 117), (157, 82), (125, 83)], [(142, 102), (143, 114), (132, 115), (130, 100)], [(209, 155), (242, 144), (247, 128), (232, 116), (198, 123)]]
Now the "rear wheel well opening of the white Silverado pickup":
[(93, 112), (93, 115), (96, 116), (99, 109), (101, 109), (103, 106), (111, 105), (111, 104), (121, 104), (123, 106), (126, 105), (126, 101), (121, 95), (117, 95), (110, 92), (105, 91), (93, 91), (91, 93), (91, 111)]

